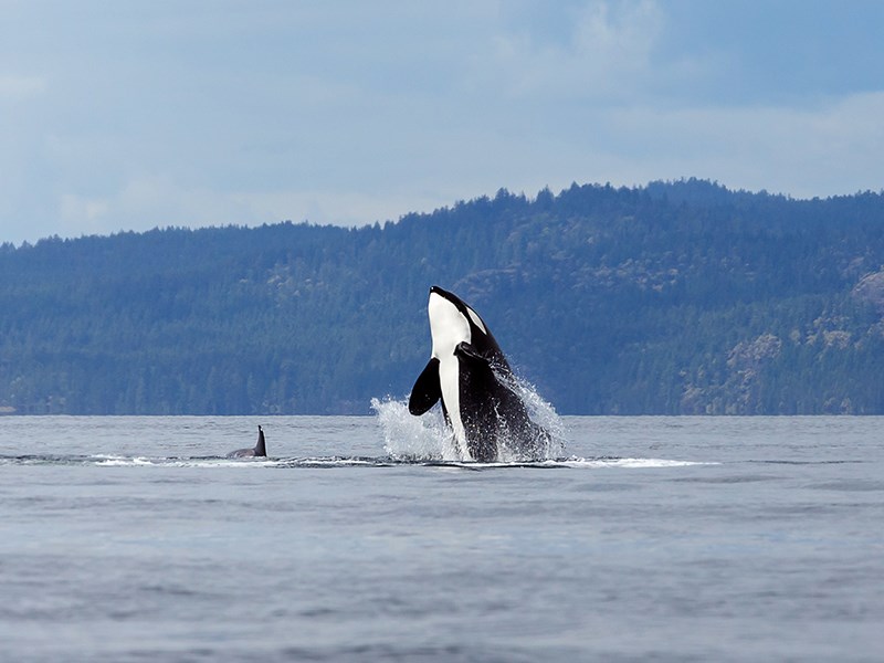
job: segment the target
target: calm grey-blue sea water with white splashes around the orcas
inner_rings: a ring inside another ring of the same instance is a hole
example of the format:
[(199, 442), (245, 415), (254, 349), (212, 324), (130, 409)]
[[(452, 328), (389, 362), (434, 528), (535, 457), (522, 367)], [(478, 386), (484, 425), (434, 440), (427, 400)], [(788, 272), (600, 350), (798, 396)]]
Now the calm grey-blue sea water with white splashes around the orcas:
[(376, 409), (0, 418), (0, 660), (884, 660), (883, 418)]

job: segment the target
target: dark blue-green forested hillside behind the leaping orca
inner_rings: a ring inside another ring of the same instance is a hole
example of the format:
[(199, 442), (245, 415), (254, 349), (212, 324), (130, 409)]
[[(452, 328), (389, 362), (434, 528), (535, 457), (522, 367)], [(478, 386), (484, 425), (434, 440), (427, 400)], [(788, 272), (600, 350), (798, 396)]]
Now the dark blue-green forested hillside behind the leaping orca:
[(367, 413), (454, 291), (562, 413), (884, 413), (884, 197), (501, 190), (355, 230), (0, 246), (0, 408)]

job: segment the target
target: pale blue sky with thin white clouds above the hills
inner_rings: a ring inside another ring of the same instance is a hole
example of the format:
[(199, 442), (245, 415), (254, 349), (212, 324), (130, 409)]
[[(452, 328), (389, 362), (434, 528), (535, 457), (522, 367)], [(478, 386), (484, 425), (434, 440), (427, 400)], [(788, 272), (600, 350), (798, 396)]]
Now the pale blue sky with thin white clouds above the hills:
[(0, 244), (884, 188), (884, 2), (0, 0)]

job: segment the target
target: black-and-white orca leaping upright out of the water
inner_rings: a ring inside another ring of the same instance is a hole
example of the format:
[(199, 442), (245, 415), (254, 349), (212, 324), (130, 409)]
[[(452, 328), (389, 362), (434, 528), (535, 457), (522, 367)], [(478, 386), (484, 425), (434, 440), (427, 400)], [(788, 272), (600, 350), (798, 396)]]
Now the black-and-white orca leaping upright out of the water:
[(516, 379), (487, 325), (456, 295), (430, 288), (433, 348), (411, 390), (414, 415), (442, 400), (445, 421), (465, 460), (491, 462), (506, 445), (524, 459), (538, 457), (549, 433), (534, 423), (516, 392)]

